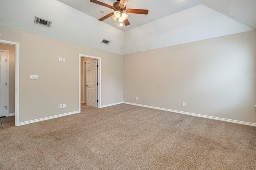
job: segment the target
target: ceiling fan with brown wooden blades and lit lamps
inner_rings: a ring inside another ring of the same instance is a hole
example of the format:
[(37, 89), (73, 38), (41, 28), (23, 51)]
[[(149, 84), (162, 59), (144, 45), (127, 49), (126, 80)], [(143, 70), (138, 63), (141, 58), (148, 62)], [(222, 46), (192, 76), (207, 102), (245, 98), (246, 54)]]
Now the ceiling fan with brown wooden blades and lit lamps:
[(106, 6), (110, 9), (113, 9), (115, 12), (111, 12), (110, 14), (107, 14), (106, 16), (102, 17), (99, 19), (99, 21), (104, 21), (107, 18), (111, 17), (114, 21), (118, 18), (118, 22), (124, 22), (125, 26), (130, 25), (130, 22), (128, 21), (128, 15), (125, 14), (124, 12), (127, 13), (132, 13), (132, 14), (148, 14), (148, 10), (141, 10), (141, 9), (126, 9), (126, 3), (128, 0), (117, 0), (114, 2), (113, 6), (105, 4), (103, 2), (100, 2), (98, 0), (90, 0), (90, 2), (93, 2), (95, 4), (99, 4), (102, 6)]

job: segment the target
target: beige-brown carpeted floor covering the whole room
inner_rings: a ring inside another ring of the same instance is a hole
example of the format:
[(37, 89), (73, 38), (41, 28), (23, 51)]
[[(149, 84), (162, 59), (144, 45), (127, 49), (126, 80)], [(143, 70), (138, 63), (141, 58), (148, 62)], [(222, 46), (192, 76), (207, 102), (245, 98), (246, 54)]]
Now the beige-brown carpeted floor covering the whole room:
[(255, 169), (256, 128), (133, 105), (0, 130), (0, 169)]

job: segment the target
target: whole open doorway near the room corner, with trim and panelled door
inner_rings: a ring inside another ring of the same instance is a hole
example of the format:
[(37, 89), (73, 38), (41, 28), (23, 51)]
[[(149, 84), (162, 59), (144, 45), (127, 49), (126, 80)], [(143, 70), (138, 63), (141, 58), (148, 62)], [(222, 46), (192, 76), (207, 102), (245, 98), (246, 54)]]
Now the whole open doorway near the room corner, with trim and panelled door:
[[(101, 58), (79, 55), (79, 101), (101, 107)], [(79, 104), (80, 106), (80, 104)], [(81, 106), (79, 107), (81, 111)]]

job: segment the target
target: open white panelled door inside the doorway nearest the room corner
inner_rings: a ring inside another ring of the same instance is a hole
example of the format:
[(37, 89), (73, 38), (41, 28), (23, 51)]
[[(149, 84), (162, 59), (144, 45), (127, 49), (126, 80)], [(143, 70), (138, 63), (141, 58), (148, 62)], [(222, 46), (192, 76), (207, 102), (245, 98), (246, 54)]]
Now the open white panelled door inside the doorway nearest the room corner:
[(86, 61), (86, 105), (97, 107), (97, 60)]

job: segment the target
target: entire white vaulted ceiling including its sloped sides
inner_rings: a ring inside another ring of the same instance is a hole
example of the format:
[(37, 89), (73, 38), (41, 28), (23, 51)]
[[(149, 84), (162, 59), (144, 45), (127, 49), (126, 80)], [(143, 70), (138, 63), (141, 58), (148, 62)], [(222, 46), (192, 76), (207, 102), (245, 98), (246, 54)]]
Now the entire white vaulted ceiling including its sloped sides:
[[(118, 54), (256, 29), (256, 0), (129, 0), (126, 8), (149, 13), (128, 14), (130, 25), (119, 27), (111, 18), (98, 21), (113, 10), (90, 0), (1, 0), (0, 25)], [(34, 24), (35, 16), (51, 28)]]

